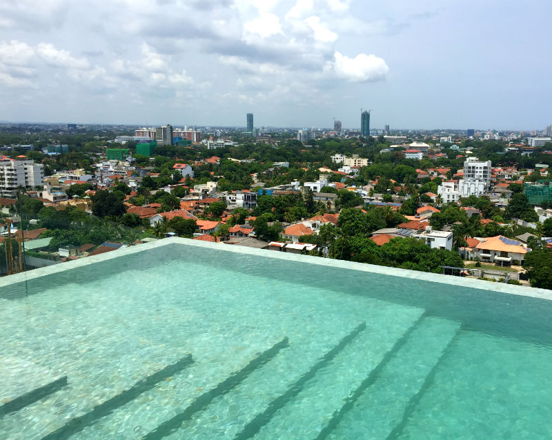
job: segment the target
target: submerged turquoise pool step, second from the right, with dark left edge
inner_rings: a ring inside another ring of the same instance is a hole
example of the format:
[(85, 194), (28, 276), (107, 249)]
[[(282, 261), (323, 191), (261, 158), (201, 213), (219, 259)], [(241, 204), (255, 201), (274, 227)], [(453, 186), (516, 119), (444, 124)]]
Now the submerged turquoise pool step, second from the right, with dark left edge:
[(367, 323), (339, 351), (326, 355), (322, 360), (324, 365), (316, 368), (314, 374), (302, 377), (271, 402), (244, 426), (235, 440), (315, 439), (386, 353), (402, 343), (423, 312), (418, 309), (415, 314), (407, 314), (400, 325), (389, 327), (385, 332), (381, 323)]

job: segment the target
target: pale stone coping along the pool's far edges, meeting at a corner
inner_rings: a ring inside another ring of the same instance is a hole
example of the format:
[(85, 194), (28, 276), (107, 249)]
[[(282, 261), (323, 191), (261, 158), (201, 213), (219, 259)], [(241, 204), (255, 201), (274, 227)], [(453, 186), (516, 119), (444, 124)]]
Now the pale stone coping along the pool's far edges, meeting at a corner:
[(2, 288), (3, 286), (10, 286), (12, 284), (20, 283), (23, 281), (28, 281), (30, 279), (45, 277), (46, 275), (51, 275), (58, 272), (64, 272), (66, 270), (88, 266), (89, 264), (92, 264), (92, 263), (98, 263), (100, 261), (108, 261), (110, 259), (115, 259), (117, 257), (123, 257), (124, 255), (135, 254), (136, 252), (144, 252), (149, 249), (159, 248), (161, 246), (169, 246), (173, 244), (195, 246), (197, 248), (225, 250), (228, 252), (236, 252), (238, 254), (248, 254), (248, 255), (255, 255), (258, 257), (273, 258), (273, 259), (284, 259), (288, 261), (297, 261), (298, 263), (300, 262), (300, 263), (316, 264), (318, 266), (329, 266), (332, 268), (352, 269), (360, 272), (370, 272), (373, 274), (382, 274), (382, 275), (387, 275), (391, 277), (418, 279), (420, 281), (428, 281), (431, 283), (441, 283), (449, 286), (460, 286), (464, 288), (489, 290), (491, 292), (502, 292), (502, 293), (508, 293), (508, 294), (521, 295), (524, 297), (533, 297), (533, 298), (552, 300), (552, 290), (547, 290), (547, 289), (531, 288), (527, 286), (515, 286), (514, 284), (497, 283), (493, 281), (484, 281), (480, 279), (453, 277), (451, 275), (419, 272), (417, 270), (389, 268), (386, 266), (376, 266), (376, 265), (367, 264), (367, 263), (355, 263), (353, 261), (314, 257), (311, 255), (291, 254), (288, 252), (277, 252), (274, 250), (246, 248), (244, 246), (228, 245), (225, 243), (210, 243), (208, 241), (184, 239), (181, 237), (170, 237), (167, 239), (150, 241), (149, 243), (142, 243), (136, 246), (129, 246), (128, 248), (119, 248), (118, 250), (115, 250), (112, 252), (106, 252), (104, 254), (94, 255), (92, 257), (66, 261), (64, 263), (47, 266), (45, 268), (38, 268), (34, 270), (29, 270), (27, 272), (21, 272), (19, 274), (8, 275), (6, 277), (0, 278), (0, 288)]

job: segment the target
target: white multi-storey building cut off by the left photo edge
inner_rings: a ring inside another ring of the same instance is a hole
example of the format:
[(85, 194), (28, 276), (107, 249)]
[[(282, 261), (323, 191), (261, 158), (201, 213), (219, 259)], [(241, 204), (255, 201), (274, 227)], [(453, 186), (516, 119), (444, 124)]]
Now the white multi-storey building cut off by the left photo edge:
[(43, 183), (44, 166), (41, 163), (34, 163), (30, 159), (11, 160), (0, 156), (0, 197), (15, 197), (19, 186), (34, 189)]

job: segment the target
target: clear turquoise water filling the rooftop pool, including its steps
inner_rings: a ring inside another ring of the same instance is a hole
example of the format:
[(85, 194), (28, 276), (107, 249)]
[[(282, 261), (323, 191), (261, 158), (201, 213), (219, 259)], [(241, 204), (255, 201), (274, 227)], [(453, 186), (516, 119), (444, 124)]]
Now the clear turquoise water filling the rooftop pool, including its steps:
[(1, 439), (552, 437), (552, 301), (164, 242), (0, 287)]

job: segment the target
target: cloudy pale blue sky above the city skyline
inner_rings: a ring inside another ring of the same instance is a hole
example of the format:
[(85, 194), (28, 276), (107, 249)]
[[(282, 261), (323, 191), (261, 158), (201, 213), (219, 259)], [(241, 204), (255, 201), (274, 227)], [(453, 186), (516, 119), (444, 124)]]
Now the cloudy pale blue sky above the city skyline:
[(549, 0), (0, 2), (0, 120), (540, 130)]

